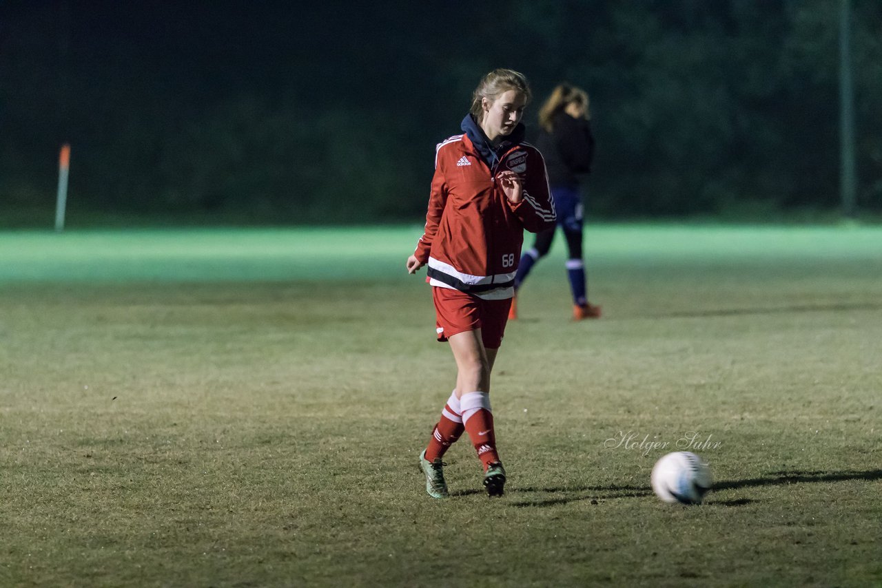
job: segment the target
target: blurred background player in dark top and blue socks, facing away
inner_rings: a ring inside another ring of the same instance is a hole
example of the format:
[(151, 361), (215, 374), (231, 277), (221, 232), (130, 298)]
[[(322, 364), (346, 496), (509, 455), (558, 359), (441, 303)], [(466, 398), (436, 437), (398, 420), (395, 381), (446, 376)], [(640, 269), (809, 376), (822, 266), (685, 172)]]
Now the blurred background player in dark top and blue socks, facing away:
[[(539, 124), (542, 130), (536, 145), (548, 167), (551, 194), (557, 208), (557, 225), (563, 229), (569, 249), (566, 272), (572, 290), (572, 317), (577, 321), (600, 318), (601, 307), (588, 301), (585, 263), (582, 261), (582, 199), (578, 176), (591, 171), (594, 159), (588, 94), (568, 84), (557, 86), (539, 111)], [(554, 235), (555, 227), (537, 234), (533, 248), (520, 257), (515, 290), (527, 279), (534, 264), (548, 255)], [(514, 300), (509, 318), (517, 317), (517, 300)]]

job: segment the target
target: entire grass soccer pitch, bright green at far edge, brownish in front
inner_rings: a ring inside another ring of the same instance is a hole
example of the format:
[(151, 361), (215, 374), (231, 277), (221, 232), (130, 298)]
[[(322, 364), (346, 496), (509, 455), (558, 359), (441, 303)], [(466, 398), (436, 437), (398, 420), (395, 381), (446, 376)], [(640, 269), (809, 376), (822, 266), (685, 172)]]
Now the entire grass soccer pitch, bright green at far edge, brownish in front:
[(882, 585), (882, 227), (589, 227), (580, 324), (558, 242), (446, 501), (420, 232), (0, 233), (0, 585)]

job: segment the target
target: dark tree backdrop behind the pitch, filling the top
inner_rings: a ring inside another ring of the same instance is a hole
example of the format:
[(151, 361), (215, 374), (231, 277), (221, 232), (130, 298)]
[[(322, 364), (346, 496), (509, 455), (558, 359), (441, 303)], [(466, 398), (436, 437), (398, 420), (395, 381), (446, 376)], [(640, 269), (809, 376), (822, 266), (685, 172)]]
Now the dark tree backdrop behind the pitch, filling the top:
[[(0, 215), (419, 219), (480, 75), (587, 89), (607, 217), (839, 204), (839, 0), (0, 4)], [(853, 0), (858, 205), (882, 208), (882, 4)]]

